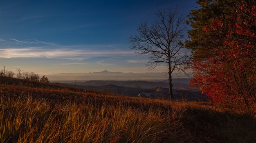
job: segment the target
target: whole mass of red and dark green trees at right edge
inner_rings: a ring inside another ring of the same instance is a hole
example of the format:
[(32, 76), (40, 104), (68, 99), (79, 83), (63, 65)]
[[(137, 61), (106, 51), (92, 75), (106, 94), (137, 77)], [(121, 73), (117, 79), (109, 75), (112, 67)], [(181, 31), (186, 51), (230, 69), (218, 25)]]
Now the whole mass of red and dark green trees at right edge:
[(189, 30), (193, 69), (191, 86), (225, 108), (256, 105), (256, 2), (198, 0)]

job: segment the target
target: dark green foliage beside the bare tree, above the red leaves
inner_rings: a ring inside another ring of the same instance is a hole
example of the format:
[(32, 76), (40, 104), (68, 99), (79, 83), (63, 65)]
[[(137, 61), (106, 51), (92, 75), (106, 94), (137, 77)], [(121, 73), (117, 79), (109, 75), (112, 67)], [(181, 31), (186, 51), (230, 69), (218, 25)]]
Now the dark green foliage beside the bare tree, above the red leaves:
[(230, 11), (234, 8), (226, 0), (198, 0), (197, 3), (200, 9), (191, 10), (188, 16), (192, 29), (188, 31), (191, 40), (186, 42), (186, 48), (192, 50), (193, 58), (216, 56), (216, 50), (224, 46), (221, 40), (225, 31), (220, 35), (216, 32), (205, 32), (205, 28), (215, 18), (224, 17), (228, 20)]

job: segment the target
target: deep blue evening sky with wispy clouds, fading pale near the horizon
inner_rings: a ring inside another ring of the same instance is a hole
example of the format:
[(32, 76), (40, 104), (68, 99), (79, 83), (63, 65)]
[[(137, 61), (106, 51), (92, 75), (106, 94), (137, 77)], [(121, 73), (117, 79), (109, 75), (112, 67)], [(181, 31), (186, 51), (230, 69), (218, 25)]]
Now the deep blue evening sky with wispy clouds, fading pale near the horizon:
[[(157, 9), (177, 8), (186, 18), (195, 0), (1, 0), (0, 67), (38, 74), (148, 71), (147, 56), (130, 50), (128, 37)], [(1, 69), (1, 68), (0, 68)]]

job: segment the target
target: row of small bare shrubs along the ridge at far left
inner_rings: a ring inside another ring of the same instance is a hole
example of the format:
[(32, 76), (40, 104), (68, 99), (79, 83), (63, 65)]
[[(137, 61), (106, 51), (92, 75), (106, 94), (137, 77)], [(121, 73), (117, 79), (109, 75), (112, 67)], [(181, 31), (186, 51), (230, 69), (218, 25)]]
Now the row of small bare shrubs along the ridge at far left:
[(0, 69), (0, 76), (6, 76), (9, 78), (18, 78), (31, 81), (49, 82), (49, 79), (44, 75), (40, 76), (34, 72), (23, 72), (23, 69), (16, 68), (16, 73), (5, 68), (5, 65)]

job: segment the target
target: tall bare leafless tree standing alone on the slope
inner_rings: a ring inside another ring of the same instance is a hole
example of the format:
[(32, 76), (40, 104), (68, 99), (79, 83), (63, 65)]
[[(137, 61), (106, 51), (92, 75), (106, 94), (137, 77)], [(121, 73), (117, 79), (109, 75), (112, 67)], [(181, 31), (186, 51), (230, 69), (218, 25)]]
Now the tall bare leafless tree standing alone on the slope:
[(186, 24), (177, 10), (159, 10), (157, 17), (152, 24), (140, 24), (137, 29), (139, 35), (131, 36), (128, 40), (135, 53), (149, 56), (149, 70), (162, 64), (168, 67), (169, 95), (173, 100), (172, 73), (185, 72), (184, 65), (188, 60), (186, 52), (181, 50), (186, 41)]

